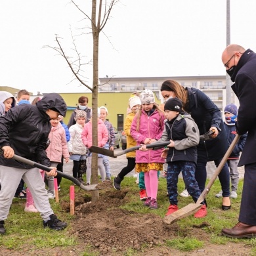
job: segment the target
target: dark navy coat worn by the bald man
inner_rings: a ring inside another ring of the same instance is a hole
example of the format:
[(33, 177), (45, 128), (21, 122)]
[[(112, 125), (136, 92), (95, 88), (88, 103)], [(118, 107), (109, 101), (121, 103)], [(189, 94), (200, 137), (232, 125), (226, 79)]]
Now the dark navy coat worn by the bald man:
[(248, 132), (238, 164), (242, 166), (256, 163), (256, 54), (251, 49), (241, 56), (231, 80), (235, 82), (232, 89), (240, 102), (236, 132), (239, 135)]

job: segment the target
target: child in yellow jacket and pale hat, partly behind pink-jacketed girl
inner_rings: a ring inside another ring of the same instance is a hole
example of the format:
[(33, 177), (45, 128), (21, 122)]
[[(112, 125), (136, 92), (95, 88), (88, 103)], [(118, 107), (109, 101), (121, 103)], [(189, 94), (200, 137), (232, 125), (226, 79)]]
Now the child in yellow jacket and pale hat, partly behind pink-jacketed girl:
[[(124, 123), (124, 133), (126, 135), (126, 140), (127, 140), (127, 148), (132, 148), (133, 146), (137, 146), (137, 142), (133, 137), (131, 136), (131, 123), (133, 122), (133, 118), (139, 112), (141, 107), (141, 102), (139, 96), (131, 96), (129, 98), (129, 109), (131, 112), (127, 114), (127, 117), (125, 118), (125, 123)], [(135, 168), (135, 152), (132, 151), (126, 154), (127, 158), (127, 166), (123, 167), (121, 171), (118, 173), (117, 177), (114, 178), (114, 188), (117, 190), (121, 189), (121, 181), (123, 181), (123, 178), (125, 175), (133, 171)], [(140, 193), (140, 200), (144, 200), (146, 198), (146, 190), (142, 191)]]

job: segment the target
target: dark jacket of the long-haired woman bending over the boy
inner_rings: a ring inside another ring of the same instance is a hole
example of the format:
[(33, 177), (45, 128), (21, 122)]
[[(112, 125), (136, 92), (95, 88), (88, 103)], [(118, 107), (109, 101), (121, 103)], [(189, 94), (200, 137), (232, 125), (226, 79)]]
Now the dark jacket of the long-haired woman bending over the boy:
[(198, 144), (198, 161), (213, 161), (223, 158), (228, 144), (221, 111), (212, 100), (202, 91), (195, 88), (186, 88), (188, 91), (188, 112), (198, 125), (200, 135), (203, 135), (211, 127), (219, 130), (215, 139), (200, 140)]

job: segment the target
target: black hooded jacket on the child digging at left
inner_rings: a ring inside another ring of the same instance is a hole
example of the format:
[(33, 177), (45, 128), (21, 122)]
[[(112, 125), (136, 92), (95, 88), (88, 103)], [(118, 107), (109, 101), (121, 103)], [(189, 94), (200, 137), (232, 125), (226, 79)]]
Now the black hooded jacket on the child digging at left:
[[(66, 103), (63, 98), (50, 93), (45, 95), (37, 105), (22, 104), (11, 108), (5, 116), (0, 117), (0, 146), (11, 146), (14, 153), (28, 160), (51, 166), (46, 156), (45, 148), (51, 131), (47, 109), (55, 108), (66, 115)], [(0, 165), (17, 168), (32, 168), (18, 161), (0, 156)]]

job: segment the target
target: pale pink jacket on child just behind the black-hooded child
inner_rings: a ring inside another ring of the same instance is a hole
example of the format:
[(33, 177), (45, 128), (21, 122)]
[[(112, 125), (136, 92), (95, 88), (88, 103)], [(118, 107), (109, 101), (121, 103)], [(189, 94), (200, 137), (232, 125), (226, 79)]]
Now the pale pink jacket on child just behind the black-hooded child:
[(62, 125), (52, 127), (48, 138), (51, 140), (51, 143), (45, 151), (50, 161), (60, 163), (62, 156), (64, 156), (64, 158), (70, 158), (66, 133)]

